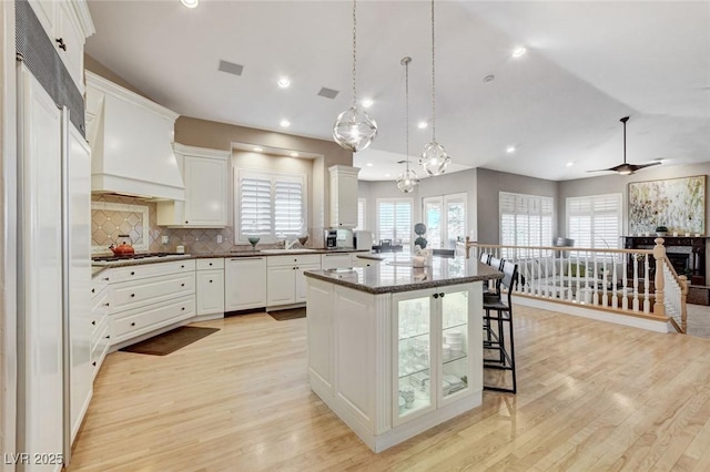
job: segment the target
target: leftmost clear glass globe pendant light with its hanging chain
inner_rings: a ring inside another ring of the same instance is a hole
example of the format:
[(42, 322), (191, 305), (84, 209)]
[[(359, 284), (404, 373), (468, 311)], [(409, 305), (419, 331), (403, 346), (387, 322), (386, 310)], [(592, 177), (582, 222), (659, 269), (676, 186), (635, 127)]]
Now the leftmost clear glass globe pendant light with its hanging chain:
[(333, 125), (333, 138), (343, 148), (354, 153), (369, 146), (377, 135), (377, 123), (364, 110), (357, 109), (357, 89), (355, 86), (355, 65), (357, 63), (357, 20), (356, 3), (353, 0), (353, 104), (339, 115)]

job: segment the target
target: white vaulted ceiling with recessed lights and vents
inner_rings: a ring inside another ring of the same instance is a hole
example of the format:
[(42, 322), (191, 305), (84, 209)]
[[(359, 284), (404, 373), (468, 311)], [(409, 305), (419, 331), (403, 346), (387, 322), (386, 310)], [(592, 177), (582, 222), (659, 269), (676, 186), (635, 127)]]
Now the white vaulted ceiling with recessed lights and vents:
[[(201, 0), (187, 9), (179, 0), (90, 0), (89, 8), (97, 34), (87, 52), (180, 114), (331, 140), (349, 106), (349, 1)], [(405, 55), (415, 165), (430, 141), (430, 126), (417, 127), (432, 115), (429, 14), (428, 1), (357, 3), (358, 98), (374, 101), (379, 127), (354, 156), (365, 179), (402, 171)], [(518, 45), (527, 52), (514, 59)], [(221, 60), (243, 65), (242, 74), (219, 71)], [(282, 75), (288, 89), (277, 86)], [(318, 96), (324, 86), (339, 93)], [(626, 115), (629, 162), (710, 162), (710, 2), (436, 2), (436, 137), (452, 171), (604, 175), (587, 171), (621, 163)]]

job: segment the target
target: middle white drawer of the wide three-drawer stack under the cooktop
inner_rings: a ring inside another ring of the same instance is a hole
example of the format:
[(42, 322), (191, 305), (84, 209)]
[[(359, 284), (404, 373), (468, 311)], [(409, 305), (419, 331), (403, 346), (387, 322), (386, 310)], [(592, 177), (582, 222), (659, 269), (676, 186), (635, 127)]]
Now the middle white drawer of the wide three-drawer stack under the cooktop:
[(171, 274), (136, 283), (111, 284), (109, 312), (115, 314), (145, 304), (194, 294), (195, 274)]

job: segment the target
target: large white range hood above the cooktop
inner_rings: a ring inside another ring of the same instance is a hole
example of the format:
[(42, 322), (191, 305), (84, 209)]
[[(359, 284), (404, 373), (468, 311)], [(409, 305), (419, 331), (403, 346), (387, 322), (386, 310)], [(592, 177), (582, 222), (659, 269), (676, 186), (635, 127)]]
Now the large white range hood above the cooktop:
[(179, 114), (87, 71), (87, 138), (93, 193), (185, 198), (173, 153)]

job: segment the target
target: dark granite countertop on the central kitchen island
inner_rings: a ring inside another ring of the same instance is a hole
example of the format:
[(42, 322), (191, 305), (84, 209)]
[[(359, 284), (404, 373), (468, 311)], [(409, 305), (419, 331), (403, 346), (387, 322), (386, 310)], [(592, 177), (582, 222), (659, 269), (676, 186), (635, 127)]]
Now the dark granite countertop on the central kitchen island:
[(434, 257), (432, 266), (412, 267), (409, 255), (384, 257), (383, 264), (352, 269), (307, 270), (306, 277), (368, 294), (393, 294), (503, 278), (503, 273), (464, 257)]

